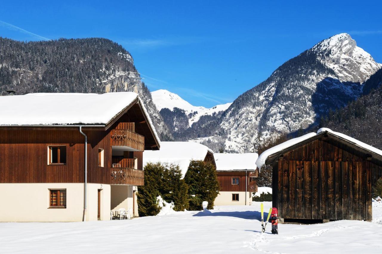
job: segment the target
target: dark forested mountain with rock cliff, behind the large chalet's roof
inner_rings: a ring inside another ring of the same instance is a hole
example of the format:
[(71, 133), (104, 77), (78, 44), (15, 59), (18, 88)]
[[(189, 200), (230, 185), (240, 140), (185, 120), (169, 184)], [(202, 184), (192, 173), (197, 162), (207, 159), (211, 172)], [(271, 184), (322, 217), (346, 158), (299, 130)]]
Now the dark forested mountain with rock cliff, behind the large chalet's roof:
[(136, 92), (163, 140), (171, 140), (128, 51), (107, 39), (18, 42), (0, 37), (0, 94)]

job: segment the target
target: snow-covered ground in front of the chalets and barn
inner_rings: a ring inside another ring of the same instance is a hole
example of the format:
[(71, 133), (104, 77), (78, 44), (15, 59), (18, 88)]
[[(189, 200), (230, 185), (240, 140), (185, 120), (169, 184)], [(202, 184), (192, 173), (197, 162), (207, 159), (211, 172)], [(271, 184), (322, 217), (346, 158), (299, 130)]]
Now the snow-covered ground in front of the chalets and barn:
[(259, 211), (255, 203), (121, 221), (0, 223), (0, 253), (381, 253), (382, 203), (373, 202), (373, 222), (279, 224), (279, 235), (270, 224), (259, 232)]

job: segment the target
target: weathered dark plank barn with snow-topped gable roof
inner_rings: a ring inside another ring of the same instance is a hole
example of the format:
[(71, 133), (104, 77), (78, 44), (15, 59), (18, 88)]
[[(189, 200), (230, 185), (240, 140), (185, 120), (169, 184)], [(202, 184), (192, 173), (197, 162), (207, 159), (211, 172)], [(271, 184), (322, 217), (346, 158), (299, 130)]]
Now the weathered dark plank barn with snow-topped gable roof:
[(372, 220), (372, 185), (382, 176), (382, 151), (322, 128), (265, 151), (273, 200), (285, 222)]

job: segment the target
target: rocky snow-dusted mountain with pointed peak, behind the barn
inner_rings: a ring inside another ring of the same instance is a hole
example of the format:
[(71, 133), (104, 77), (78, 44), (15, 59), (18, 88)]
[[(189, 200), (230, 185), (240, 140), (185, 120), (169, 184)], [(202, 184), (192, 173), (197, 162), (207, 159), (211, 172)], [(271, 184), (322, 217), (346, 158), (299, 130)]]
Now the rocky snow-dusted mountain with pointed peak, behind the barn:
[(208, 140), (215, 150), (252, 151), (254, 144), (275, 133), (317, 124), (330, 109), (355, 100), (363, 83), (381, 67), (349, 34), (334, 35), (286, 61), (240, 95), (221, 117), (190, 132), (196, 133), (191, 138)]

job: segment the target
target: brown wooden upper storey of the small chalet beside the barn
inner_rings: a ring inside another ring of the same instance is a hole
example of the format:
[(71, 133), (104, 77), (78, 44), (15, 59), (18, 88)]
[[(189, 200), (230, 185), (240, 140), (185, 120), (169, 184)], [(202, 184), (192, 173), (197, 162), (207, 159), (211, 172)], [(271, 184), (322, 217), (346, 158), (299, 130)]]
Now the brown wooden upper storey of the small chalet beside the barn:
[[(219, 191), (249, 191), (256, 192), (257, 184), (256, 178), (258, 177), (257, 170), (255, 171), (241, 171), (241, 170), (232, 170), (232, 171), (216, 171), (217, 178), (220, 184)], [(247, 174), (247, 190), (245, 189), (246, 185), (246, 174)], [(239, 178), (239, 184), (232, 184), (232, 178)]]

